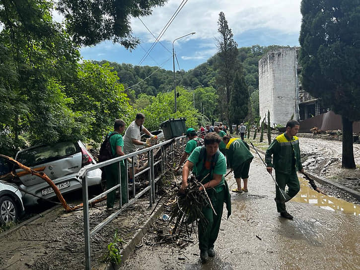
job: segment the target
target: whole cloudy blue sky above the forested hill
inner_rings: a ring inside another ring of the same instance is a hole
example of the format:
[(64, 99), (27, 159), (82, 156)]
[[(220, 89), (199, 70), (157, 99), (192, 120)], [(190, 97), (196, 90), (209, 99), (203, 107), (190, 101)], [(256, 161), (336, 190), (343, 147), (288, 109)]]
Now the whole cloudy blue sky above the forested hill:
[[(141, 66), (161, 66), (172, 70), (172, 41), (191, 32), (194, 35), (174, 43), (181, 69), (189, 70), (212, 57), (216, 49), (218, 13), (224, 12), (238, 47), (255, 44), (298, 46), (301, 25), (301, 0), (188, 0), (177, 15), (160, 44), (145, 58)], [(168, 0), (156, 7), (150, 16), (142, 17), (144, 24), (157, 36), (170, 19), (181, 0)], [(142, 41), (132, 52), (110, 41), (80, 49), (83, 59), (108, 60), (139, 65), (154, 38), (138, 18), (132, 19), (133, 35)], [(165, 49), (165, 48), (167, 49)], [(175, 62), (175, 69), (179, 67)]]

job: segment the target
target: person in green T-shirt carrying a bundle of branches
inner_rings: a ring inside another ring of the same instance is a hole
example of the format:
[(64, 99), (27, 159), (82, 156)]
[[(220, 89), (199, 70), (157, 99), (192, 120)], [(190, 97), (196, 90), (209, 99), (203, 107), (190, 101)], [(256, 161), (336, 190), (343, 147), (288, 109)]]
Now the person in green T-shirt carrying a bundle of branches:
[[(226, 202), (227, 217), (231, 214), (230, 194), (224, 174), (226, 174), (226, 161), (222, 153), (218, 151), (218, 146), (221, 138), (215, 133), (210, 133), (205, 136), (205, 146), (196, 147), (183, 167), (182, 171), (182, 185), (180, 192), (185, 192), (188, 186), (188, 177), (191, 170), (196, 175), (198, 181), (202, 181), (207, 194), (213, 204), (213, 209), (208, 203), (202, 209), (202, 212), (207, 219), (199, 221), (199, 248), (200, 258), (203, 262), (210, 257), (215, 256), (214, 244), (219, 232), (223, 203)], [(200, 191), (203, 187), (200, 187)]]

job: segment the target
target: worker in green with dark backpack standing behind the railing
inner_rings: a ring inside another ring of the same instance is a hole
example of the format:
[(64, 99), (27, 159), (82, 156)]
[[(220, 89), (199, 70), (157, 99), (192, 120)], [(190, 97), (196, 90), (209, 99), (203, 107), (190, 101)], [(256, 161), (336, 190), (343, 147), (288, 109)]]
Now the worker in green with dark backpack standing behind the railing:
[[(110, 145), (111, 152), (114, 157), (125, 155), (123, 152), (124, 140), (121, 135), (125, 129), (125, 122), (121, 119), (116, 119), (114, 123), (114, 131), (110, 132), (107, 136), (110, 136)], [(121, 179), (121, 199), (122, 205), (128, 202), (128, 185), (126, 181), (127, 170), (125, 167), (124, 160), (120, 161), (120, 170), (121, 175), (119, 179), (119, 165), (118, 163), (113, 163), (105, 168), (106, 175), (106, 189), (111, 189), (112, 187), (119, 184)], [(115, 190), (107, 194), (106, 206), (108, 209), (113, 209), (115, 203)]]

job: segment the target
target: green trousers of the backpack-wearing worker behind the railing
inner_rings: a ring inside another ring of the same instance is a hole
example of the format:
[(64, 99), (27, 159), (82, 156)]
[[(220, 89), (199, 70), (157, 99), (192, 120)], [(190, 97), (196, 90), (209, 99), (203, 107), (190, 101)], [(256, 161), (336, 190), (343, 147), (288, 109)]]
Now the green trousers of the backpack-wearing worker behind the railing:
[[(127, 170), (124, 163), (120, 163), (120, 169), (121, 169), (121, 197), (122, 197), (122, 204), (128, 202), (128, 185), (126, 181), (126, 174)], [(117, 163), (111, 164), (109, 166), (105, 167), (105, 176), (106, 176), (106, 189), (109, 190), (112, 187), (119, 184), (119, 167)], [(114, 207), (115, 203), (115, 196), (116, 191), (112, 191), (108, 193), (107, 195), (107, 207)]]

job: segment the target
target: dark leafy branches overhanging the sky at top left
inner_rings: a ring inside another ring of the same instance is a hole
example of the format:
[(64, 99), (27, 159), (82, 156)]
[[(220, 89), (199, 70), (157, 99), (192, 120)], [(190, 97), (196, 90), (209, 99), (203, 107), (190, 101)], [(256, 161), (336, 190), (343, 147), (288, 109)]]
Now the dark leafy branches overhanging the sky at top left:
[[(23, 0), (25, 1), (25, 0)], [(132, 36), (131, 17), (150, 15), (166, 0), (59, 0), (57, 9), (66, 19), (67, 31), (78, 45), (91, 46), (105, 40), (127, 49), (140, 43)]]

